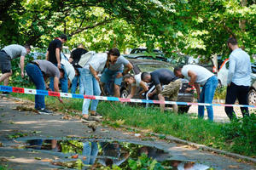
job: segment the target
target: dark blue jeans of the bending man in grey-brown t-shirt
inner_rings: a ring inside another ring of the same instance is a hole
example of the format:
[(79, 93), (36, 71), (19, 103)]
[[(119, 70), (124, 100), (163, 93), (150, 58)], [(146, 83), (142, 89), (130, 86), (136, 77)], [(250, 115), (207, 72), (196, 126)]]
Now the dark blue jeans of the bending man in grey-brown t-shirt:
[[(38, 68), (38, 65), (27, 64), (25, 67), (26, 74), (31, 78), (32, 82), (39, 90), (45, 90), (44, 75)], [(35, 95), (35, 109), (44, 109), (44, 95)]]

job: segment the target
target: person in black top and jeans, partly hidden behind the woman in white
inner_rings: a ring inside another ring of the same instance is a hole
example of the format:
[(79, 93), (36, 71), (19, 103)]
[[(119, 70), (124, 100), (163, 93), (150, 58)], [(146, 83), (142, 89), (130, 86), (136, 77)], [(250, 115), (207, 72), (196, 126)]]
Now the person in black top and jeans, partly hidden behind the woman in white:
[[(88, 51), (84, 49), (84, 45), (82, 43), (79, 44), (78, 48), (74, 49), (69, 58), (69, 62), (73, 65), (76, 71), (78, 71), (77, 76), (73, 78), (72, 86), (71, 86), (71, 93), (76, 93), (76, 88), (78, 85), (78, 82), (80, 81), (80, 70), (81, 66), (78, 64), (79, 60), (81, 59), (81, 55), (86, 54)], [(79, 83), (79, 94), (84, 94), (84, 88), (82, 86), (82, 83)]]

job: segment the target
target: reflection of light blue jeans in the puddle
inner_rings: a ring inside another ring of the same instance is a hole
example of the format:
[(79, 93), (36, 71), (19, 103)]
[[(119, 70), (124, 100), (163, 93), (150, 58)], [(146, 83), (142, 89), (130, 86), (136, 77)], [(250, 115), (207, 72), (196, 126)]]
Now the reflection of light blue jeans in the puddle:
[(98, 145), (96, 142), (84, 142), (84, 147), (83, 147), (83, 156), (86, 156), (85, 161), (83, 163), (85, 165), (93, 165), (96, 156), (98, 155), (99, 149)]

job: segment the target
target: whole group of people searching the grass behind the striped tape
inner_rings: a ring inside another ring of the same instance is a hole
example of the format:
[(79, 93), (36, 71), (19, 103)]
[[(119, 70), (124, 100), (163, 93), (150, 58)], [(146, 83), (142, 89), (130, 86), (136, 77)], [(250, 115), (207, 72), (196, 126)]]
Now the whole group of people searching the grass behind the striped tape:
[[(67, 37), (65, 35), (55, 38), (49, 43), (46, 59), (34, 59), (26, 65), (26, 73), (37, 89), (59, 92), (59, 82), (61, 82), (62, 92), (67, 93), (67, 82), (72, 82), (71, 93), (75, 94), (79, 82), (79, 94), (100, 95), (104, 91), (104, 85), (113, 80), (113, 94), (115, 97), (119, 97), (119, 87), (121, 82), (124, 81), (131, 85), (131, 94), (128, 95), (128, 98), (132, 98), (137, 87), (143, 88), (141, 93), (147, 92), (148, 83), (152, 82), (155, 90), (149, 93), (148, 97), (157, 95), (161, 101), (165, 101), (165, 97), (176, 101), (178, 91), (182, 85), (180, 78), (186, 78), (191, 85), (191, 88), (187, 88), (186, 91), (189, 92), (194, 86), (198, 102), (212, 104), (218, 86), (218, 78), (200, 65), (183, 65), (175, 68), (173, 72), (162, 68), (150, 73), (143, 72), (132, 76), (128, 72), (131, 71), (133, 66), (127, 59), (120, 56), (118, 48), (111, 48), (107, 53), (96, 54), (88, 52), (80, 44), (78, 48), (73, 50), (68, 61), (64, 61), (65, 59), (61, 59), (61, 47), (66, 41)], [(228, 46), (232, 53), (230, 54), (226, 104), (234, 104), (237, 98), (241, 105), (247, 105), (246, 98), (251, 71), (250, 57), (241, 48), (238, 48), (234, 37), (229, 38)], [(3, 73), (0, 82), (8, 85), (9, 77), (12, 75), (10, 61), (17, 57), (20, 57), (20, 75), (24, 77), (24, 59), (30, 50), (27, 45), (23, 47), (13, 44), (0, 51), (0, 70)], [(81, 64), (84, 55), (89, 53), (90, 57)], [(102, 73), (102, 77), (98, 76), (99, 73)], [(46, 83), (47, 77), (50, 77), (49, 86)], [(163, 85), (166, 85), (165, 88), (162, 88)], [(62, 102), (60, 97), (59, 100)], [(97, 105), (97, 99), (93, 99), (91, 104), (90, 99), (84, 99), (82, 108), (84, 122), (92, 122), (94, 116), (100, 116), (96, 113)], [(177, 112), (177, 105), (172, 105), (172, 107), (173, 111)], [(208, 119), (213, 121), (212, 105), (206, 107)], [(35, 95), (35, 109), (42, 114), (51, 113), (45, 108), (44, 95)], [(160, 110), (165, 110), (164, 102), (160, 102)], [(226, 107), (225, 111), (230, 119), (236, 118), (232, 107)], [(247, 107), (241, 107), (241, 111), (243, 116), (249, 114)], [(198, 106), (198, 116), (201, 118), (204, 116), (203, 105)]]

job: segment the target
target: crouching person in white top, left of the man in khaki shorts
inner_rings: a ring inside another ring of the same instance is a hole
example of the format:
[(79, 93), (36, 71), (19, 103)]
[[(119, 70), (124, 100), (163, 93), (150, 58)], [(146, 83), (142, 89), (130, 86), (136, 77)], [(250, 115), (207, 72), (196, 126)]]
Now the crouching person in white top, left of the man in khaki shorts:
[(136, 89), (139, 87), (143, 88), (143, 90), (139, 93), (140, 96), (144, 92), (148, 91), (148, 85), (142, 81), (141, 75), (142, 73), (139, 73), (135, 76), (132, 76), (131, 74), (126, 74), (124, 76), (124, 81), (131, 85), (131, 93), (127, 96), (128, 99), (131, 99), (134, 96), (134, 94), (136, 93)]

